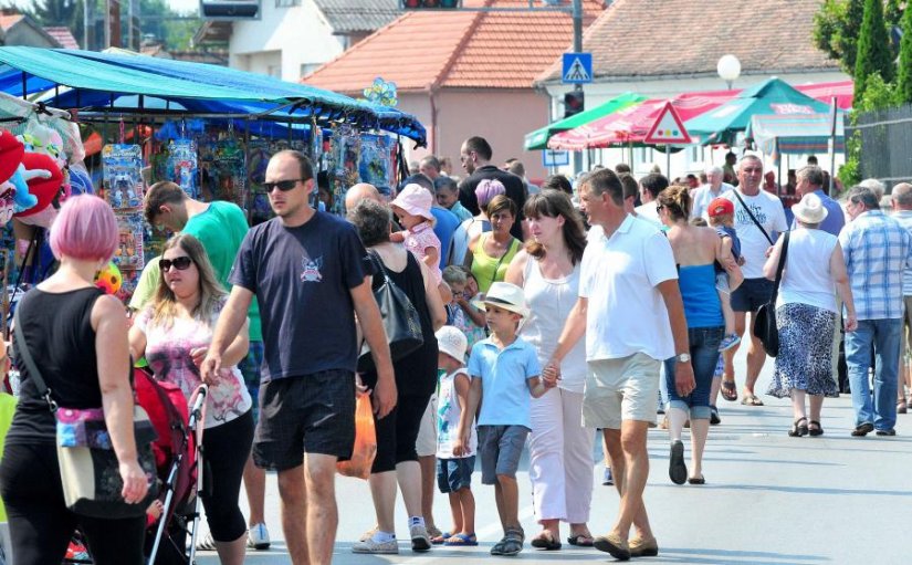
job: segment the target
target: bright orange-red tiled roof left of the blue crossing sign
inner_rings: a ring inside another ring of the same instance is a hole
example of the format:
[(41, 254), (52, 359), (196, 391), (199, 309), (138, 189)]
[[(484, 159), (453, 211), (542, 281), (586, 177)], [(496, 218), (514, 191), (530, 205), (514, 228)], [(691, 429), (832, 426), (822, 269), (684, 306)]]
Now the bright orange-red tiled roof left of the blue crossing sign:
[[(528, 0), (486, 0), (525, 8)], [(584, 0), (584, 25), (601, 10)], [(467, 0), (465, 6), (481, 2)], [(400, 91), (429, 87), (528, 88), (573, 42), (573, 21), (562, 12), (411, 11), (366, 38), (302, 82), (360, 93), (376, 76)]]

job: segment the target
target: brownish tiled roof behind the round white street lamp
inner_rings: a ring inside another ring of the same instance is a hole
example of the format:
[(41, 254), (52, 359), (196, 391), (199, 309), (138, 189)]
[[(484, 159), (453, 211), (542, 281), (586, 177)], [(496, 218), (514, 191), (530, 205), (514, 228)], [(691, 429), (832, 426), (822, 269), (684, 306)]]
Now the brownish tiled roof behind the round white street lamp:
[[(820, 0), (616, 0), (583, 36), (598, 79), (715, 75), (732, 53), (742, 74), (838, 71), (814, 46)], [(538, 76), (558, 81), (560, 61)]]

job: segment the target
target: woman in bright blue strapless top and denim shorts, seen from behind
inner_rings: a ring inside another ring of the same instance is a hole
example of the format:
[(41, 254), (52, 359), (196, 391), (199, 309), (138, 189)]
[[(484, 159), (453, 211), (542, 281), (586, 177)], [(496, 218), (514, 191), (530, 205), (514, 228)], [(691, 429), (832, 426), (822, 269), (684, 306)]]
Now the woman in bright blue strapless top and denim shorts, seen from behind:
[[(683, 484), (684, 481), (703, 484), (703, 448), (710, 430), (713, 373), (719, 358), (719, 343), (725, 333), (722, 305), (715, 291), (715, 262), (728, 273), (732, 290), (741, 284), (743, 276), (731, 252), (723, 250), (722, 239), (715, 230), (688, 223), (691, 206), (688, 190), (688, 187), (673, 185), (659, 195), (657, 205), (659, 218), (669, 227), (667, 234), (678, 263), (678, 283), (684, 302), (691, 365), (696, 381), (696, 388), (690, 396), (679, 396), (674, 386), (674, 364), (678, 359), (672, 357), (665, 360), (668, 429), (671, 437), (669, 477), (675, 484)], [(690, 474), (681, 442), (681, 431), (688, 417), (691, 422)]]

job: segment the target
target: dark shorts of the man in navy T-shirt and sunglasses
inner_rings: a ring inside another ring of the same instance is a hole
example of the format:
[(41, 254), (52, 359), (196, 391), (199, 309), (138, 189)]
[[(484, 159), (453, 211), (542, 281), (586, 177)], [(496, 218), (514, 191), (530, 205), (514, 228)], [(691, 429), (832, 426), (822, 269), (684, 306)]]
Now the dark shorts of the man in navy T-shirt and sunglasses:
[(293, 469), (304, 453), (348, 459), (354, 444), (354, 373), (334, 369), (263, 383), (253, 437), (256, 467)]

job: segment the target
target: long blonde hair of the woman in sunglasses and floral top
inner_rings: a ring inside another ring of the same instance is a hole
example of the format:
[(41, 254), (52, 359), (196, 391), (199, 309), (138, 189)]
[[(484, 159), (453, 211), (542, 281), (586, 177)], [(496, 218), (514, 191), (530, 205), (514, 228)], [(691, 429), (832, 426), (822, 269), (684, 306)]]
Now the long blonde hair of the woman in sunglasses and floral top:
[[(209, 262), (209, 255), (206, 254), (206, 249), (197, 238), (190, 234), (175, 236), (165, 243), (161, 254), (164, 255), (165, 251), (175, 248), (185, 251), (187, 257), (197, 265), (200, 296), (199, 304), (191, 314), (197, 321), (209, 325), (212, 314), (216, 313), (219, 303), (228, 293), (216, 279), (216, 272), (212, 270), (212, 263)], [(155, 291), (151, 321), (164, 327), (170, 327), (174, 324), (176, 312), (177, 297), (174, 291), (168, 287), (168, 283), (165, 282), (165, 273), (163, 272), (161, 279), (158, 281), (158, 289)]]

